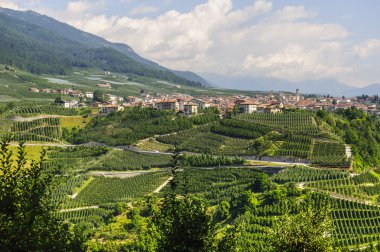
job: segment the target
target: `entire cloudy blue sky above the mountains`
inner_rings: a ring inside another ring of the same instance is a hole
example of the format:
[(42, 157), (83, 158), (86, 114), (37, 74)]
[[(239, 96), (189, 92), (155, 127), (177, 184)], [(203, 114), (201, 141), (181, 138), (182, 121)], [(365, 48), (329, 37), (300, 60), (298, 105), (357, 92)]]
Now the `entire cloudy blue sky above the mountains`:
[(165, 66), (380, 82), (378, 0), (0, 0), (129, 44)]

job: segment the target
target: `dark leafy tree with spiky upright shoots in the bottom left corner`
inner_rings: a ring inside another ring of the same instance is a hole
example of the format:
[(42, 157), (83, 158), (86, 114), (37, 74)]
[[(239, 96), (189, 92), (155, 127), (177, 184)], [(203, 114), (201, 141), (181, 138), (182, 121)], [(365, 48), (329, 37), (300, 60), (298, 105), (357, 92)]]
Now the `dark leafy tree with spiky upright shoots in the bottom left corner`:
[(55, 173), (44, 172), (44, 157), (30, 162), (23, 144), (17, 154), (8, 142), (0, 145), (1, 251), (81, 250), (80, 236), (53, 216), (49, 189)]

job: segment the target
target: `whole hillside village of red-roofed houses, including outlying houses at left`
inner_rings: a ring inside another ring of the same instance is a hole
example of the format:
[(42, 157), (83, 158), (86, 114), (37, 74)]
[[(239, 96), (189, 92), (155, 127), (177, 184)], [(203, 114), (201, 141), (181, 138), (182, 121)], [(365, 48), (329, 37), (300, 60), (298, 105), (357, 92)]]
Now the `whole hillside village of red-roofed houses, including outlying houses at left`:
[[(97, 87), (111, 89), (110, 83), (100, 83)], [(105, 94), (104, 101), (94, 100), (94, 92), (82, 92), (71, 88), (65, 89), (37, 89), (31, 88), (31, 92), (44, 92), (67, 95), (77, 99), (62, 101), (65, 108), (78, 108), (91, 106), (99, 108), (100, 113), (121, 111), (126, 107), (141, 106), (156, 108), (158, 110), (173, 110), (185, 115), (197, 114), (199, 109), (216, 108), (221, 114), (236, 111), (240, 113), (279, 113), (282, 110), (326, 110), (348, 109), (355, 107), (367, 113), (378, 113), (373, 97), (330, 97), (330, 96), (303, 96), (300, 90), (295, 93), (279, 93), (267, 95), (240, 96), (198, 96), (186, 94), (157, 94), (141, 91), (139, 96), (121, 97), (113, 94)]]

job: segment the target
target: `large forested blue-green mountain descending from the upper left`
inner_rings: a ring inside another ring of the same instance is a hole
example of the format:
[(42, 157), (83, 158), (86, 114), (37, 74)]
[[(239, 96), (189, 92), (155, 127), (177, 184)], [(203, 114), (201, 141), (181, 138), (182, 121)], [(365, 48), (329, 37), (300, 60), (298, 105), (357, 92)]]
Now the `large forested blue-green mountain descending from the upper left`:
[(175, 71), (144, 59), (125, 44), (111, 43), (33, 11), (0, 8), (0, 63), (34, 73), (63, 73), (71, 67), (98, 67), (188, 85), (207, 85), (191, 72)]

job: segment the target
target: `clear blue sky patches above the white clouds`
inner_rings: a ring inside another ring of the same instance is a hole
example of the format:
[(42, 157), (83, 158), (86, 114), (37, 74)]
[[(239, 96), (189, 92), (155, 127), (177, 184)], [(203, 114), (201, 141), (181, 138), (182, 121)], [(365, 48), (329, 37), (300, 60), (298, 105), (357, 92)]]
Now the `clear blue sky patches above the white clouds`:
[[(52, 10), (65, 9), (69, 0), (19, 0), (14, 2), (25, 9), (47, 8)], [(88, 2), (96, 3), (92, 0)], [(195, 6), (204, 3), (204, 0), (116, 0), (108, 1), (107, 6), (100, 11), (106, 15), (124, 16), (130, 14), (139, 6), (151, 6), (157, 10), (141, 13), (137, 17), (157, 17), (169, 10), (180, 12), (191, 11)], [(252, 4), (252, 0), (234, 0), (234, 8), (240, 9)], [(379, 36), (380, 30), (376, 24), (380, 24), (380, 1), (377, 0), (274, 0), (273, 9), (278, 10), (287, 5), (303, 5), (319, 12), (318, 20), (321, 22), (337, 22), (362, 39)]]

